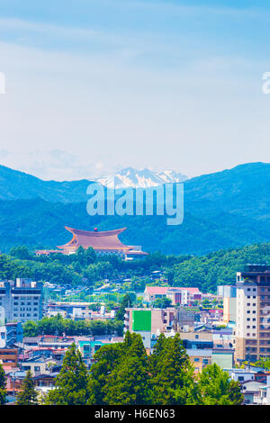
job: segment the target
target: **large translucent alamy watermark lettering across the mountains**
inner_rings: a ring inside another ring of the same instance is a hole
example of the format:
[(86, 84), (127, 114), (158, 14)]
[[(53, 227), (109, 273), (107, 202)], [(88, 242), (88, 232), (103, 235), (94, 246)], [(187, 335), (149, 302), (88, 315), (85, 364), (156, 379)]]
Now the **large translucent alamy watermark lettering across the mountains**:
[(107, 188), (89, 184), (86, 210), (90, 216), (166, 216), (167, 225), (184, 220), (184, 184), (161, 184), (150, 188)]

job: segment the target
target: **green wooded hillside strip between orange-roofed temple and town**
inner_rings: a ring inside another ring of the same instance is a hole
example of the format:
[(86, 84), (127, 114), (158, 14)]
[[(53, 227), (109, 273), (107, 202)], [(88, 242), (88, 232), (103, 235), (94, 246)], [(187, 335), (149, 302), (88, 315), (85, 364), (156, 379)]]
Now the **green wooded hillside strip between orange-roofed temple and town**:
[[(9, 255), (0, 256), (0, 279), (31, 277), (35, 281), (55, 284), (100, 286), (99, 281), (130, 278), (130, 290), (142, 292), (146, 284), (194, 286), (202, 293), (216, 293), (219, 284), (234, 284), (236, 272), (248, 263), (270, 262), (270, 243), (219, 250), (202, 257), (165, 256), (153, 253), (148, 257), (125, 262), (117, 257), (96, 257), (94, 250), (79, 248), (75, 255), (35, 257), (26, 247), (14, 247)], [(166, 283), (147, 276), (161, 270)]]

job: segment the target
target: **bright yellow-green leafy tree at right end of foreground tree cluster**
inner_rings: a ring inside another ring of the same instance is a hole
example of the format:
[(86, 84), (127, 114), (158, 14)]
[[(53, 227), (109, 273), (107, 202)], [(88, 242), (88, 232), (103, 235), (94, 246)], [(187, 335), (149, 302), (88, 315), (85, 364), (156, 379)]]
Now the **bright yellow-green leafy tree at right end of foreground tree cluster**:
[(243, 402), (240, 385), (230, 381), (228, 372), (215, 363), (202, 369), (198, 386), (202, 405), (240, 405)]

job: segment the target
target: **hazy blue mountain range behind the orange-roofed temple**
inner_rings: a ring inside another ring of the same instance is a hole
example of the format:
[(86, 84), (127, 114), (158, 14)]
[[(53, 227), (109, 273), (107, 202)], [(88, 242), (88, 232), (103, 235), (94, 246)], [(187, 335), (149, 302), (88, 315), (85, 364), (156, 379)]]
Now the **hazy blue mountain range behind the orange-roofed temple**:
[[(133, 181), (134, 182), (134, 181)], [(56, 247), (65, 225), (92, 230), (127, 227), (121, 240), (145, 251), (201, 255), (270, 240), (270, 164), (249, 163), (184, 181), (184, 222), (166, 216), (94, 216), (86, 212), (89, 181), (42, 181), (0, 166), (0, 250)]]

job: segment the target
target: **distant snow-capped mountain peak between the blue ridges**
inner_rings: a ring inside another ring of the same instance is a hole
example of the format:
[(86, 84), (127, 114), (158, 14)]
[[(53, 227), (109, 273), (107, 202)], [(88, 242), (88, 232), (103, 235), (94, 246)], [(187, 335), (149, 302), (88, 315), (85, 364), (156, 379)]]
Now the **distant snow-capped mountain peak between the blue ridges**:
[(174, 170), (153, 172), (149, 169), (137, 170), (126, 167), (113, 175), (96, 178), (95, 181), (108, 188), (148, 188), (160, 184), (176, 183), (185, 181), (187, 176), (176, 173)]

